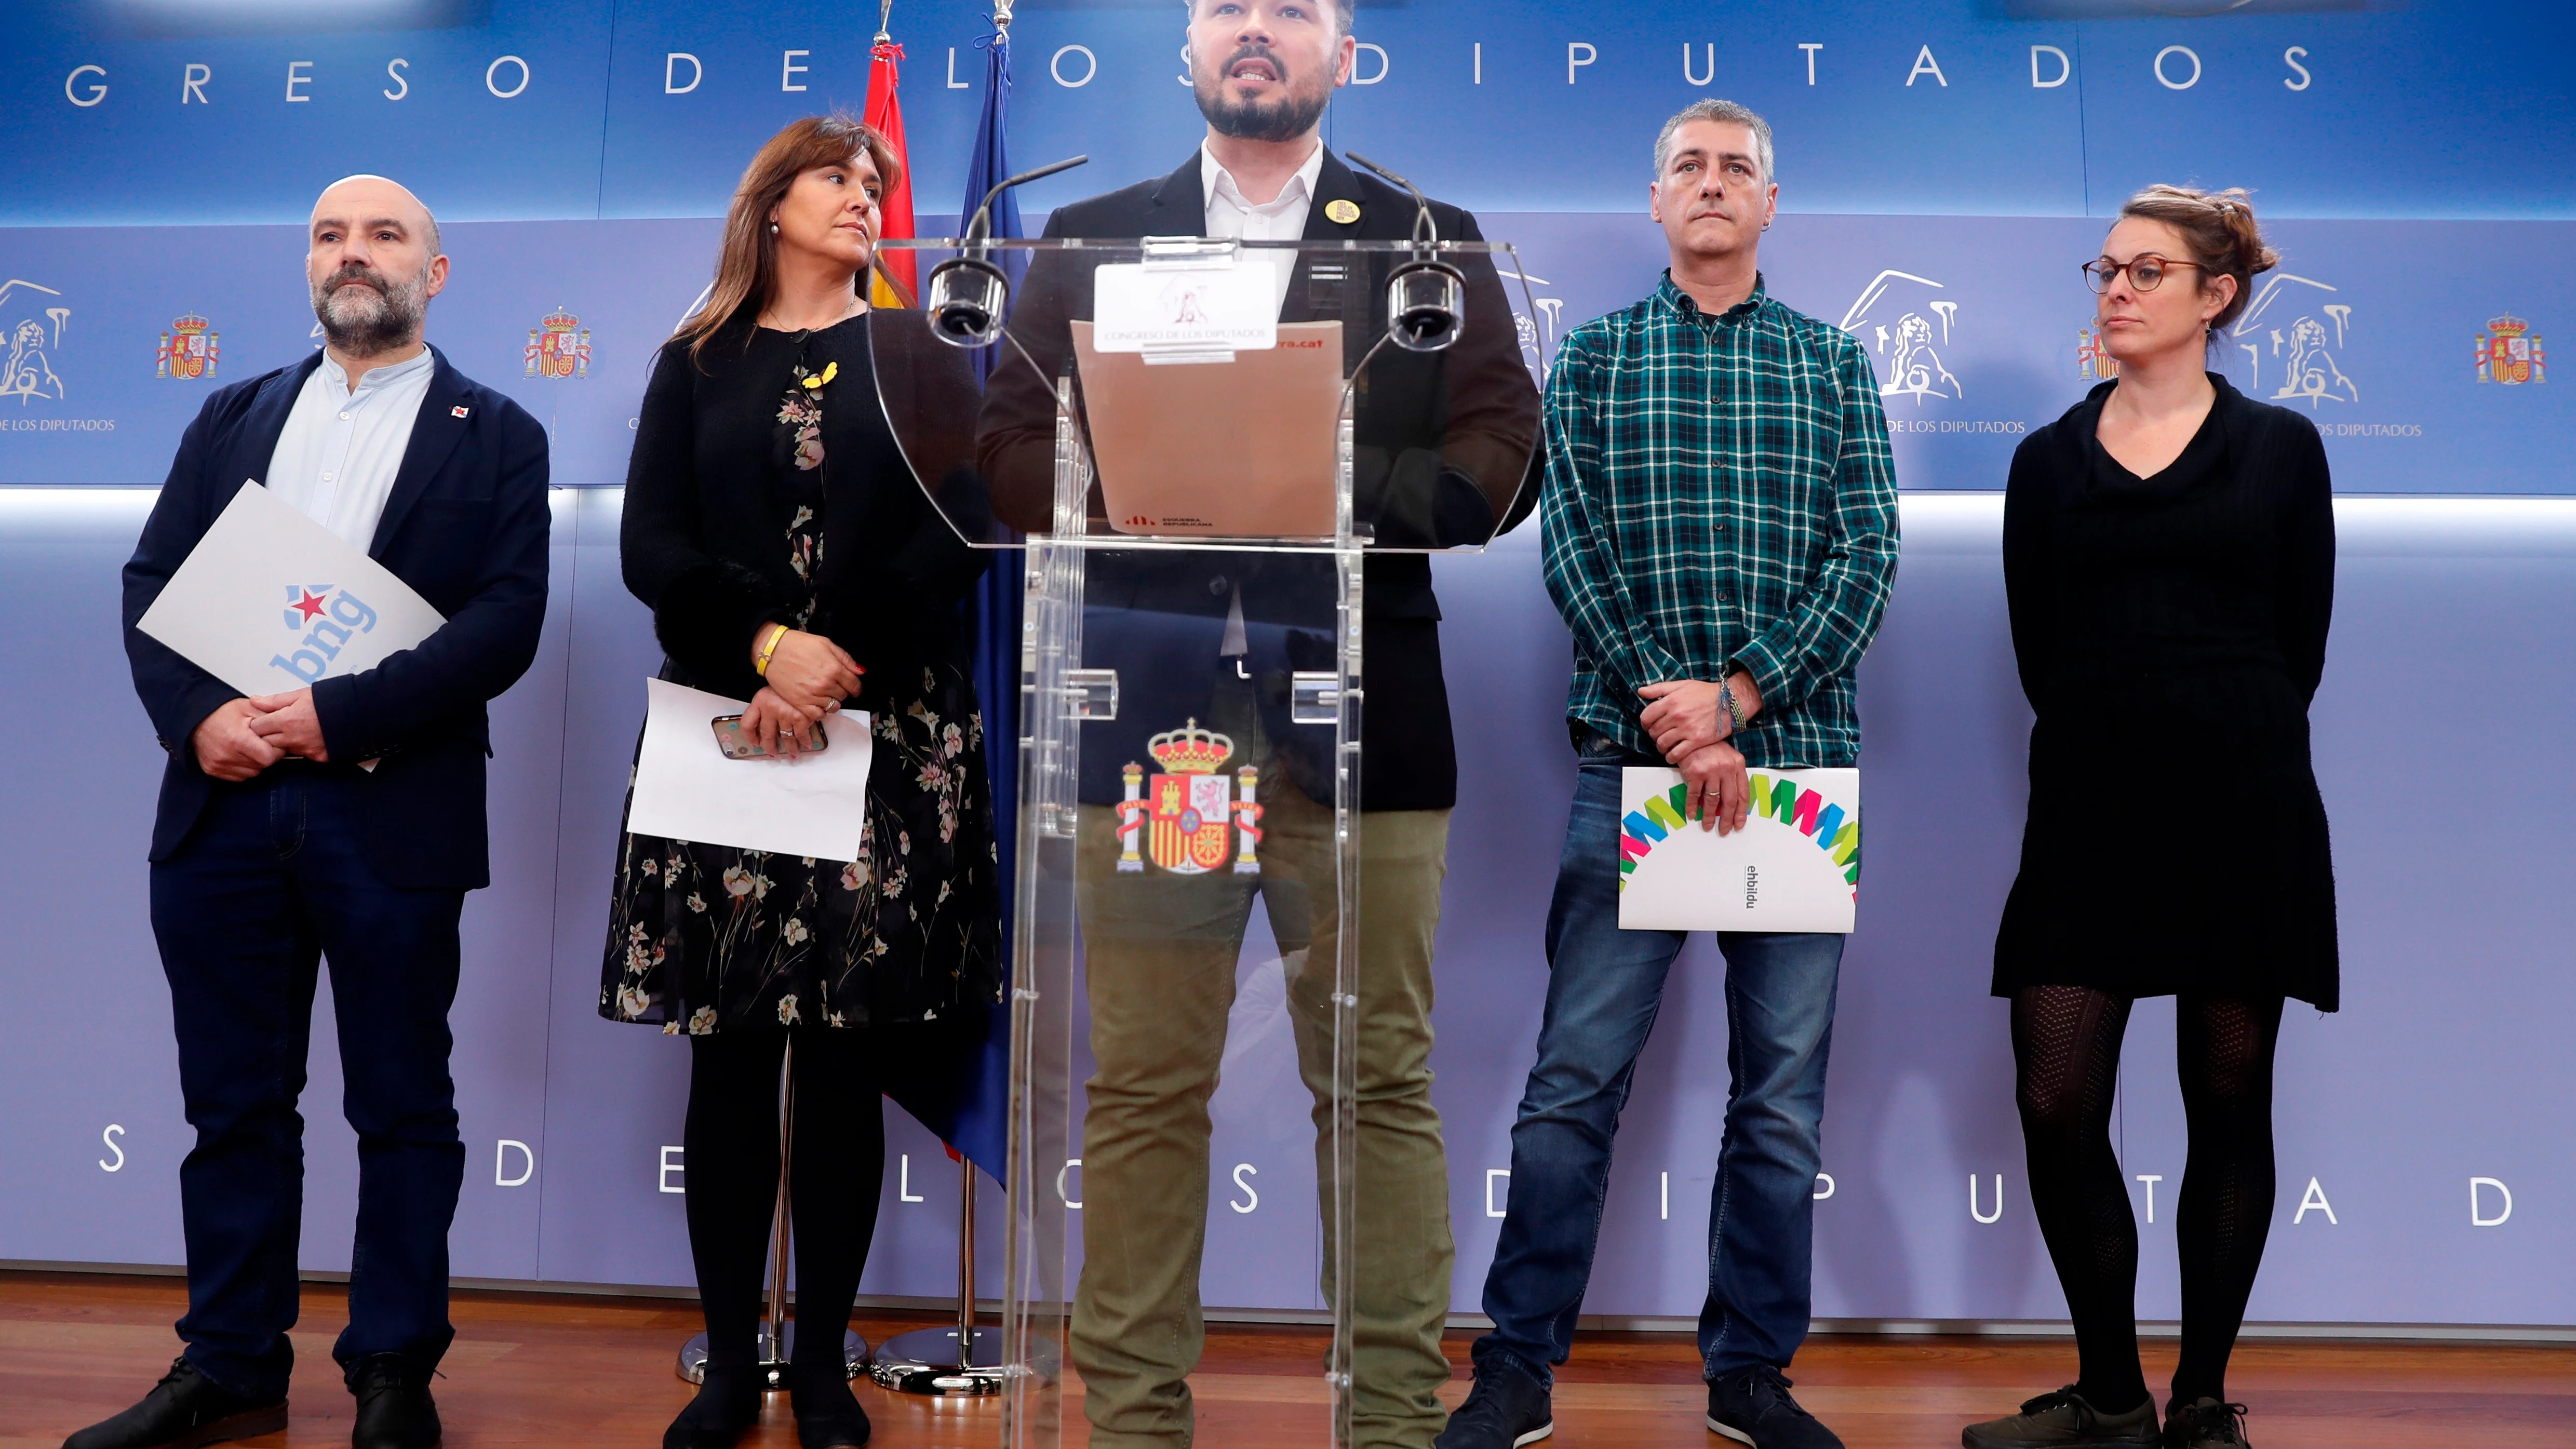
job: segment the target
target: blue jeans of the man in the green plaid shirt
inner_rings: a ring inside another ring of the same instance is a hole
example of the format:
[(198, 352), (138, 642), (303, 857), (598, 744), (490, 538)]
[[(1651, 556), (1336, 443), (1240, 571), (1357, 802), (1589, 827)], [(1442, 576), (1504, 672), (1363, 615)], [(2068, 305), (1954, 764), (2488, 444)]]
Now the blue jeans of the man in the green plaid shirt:
[[(1548, 905), (1548, 1011), (1512, 1124), (1512, 1191), (1484, 1279), (1476, 1369), (1540, 1385), (1574, 1346), (1610, 1186), (1610, 1140), (1682, 931), (1618, 928), (1620, 768), (1659, 761), (1589, 735)], [(1726, 1137), (1708, 1201), (1700, 1364), (1788, 1366), (1808, 1325), (1824, 1057), (1842, 936), (1721, 931)]]

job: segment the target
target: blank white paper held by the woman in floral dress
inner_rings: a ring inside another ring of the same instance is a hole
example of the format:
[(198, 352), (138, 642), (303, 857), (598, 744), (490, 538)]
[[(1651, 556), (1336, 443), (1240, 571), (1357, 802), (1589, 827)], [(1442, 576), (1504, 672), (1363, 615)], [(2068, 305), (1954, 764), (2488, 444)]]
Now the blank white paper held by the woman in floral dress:
[(732, 761), (708, 727), (739, 699), (644, 681), (644, 753), (626, 828), (708, 846), (855, 861), (868, 822), (868, 717), (827, 714), (832, 748), (788, 761)]

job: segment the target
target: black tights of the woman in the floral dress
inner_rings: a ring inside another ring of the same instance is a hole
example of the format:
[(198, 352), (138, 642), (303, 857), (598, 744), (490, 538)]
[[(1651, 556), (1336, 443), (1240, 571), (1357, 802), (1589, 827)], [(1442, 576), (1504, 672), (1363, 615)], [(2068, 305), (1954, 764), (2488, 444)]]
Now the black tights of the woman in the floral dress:
[(796, 1359), (840, 1359), (886, 1181), (876, 1031), (866, 1026), (690, 1036), (688, 1250), (706, 1356), (752, 1369), (778, 1209), (778, 1055), (796, 1039)]

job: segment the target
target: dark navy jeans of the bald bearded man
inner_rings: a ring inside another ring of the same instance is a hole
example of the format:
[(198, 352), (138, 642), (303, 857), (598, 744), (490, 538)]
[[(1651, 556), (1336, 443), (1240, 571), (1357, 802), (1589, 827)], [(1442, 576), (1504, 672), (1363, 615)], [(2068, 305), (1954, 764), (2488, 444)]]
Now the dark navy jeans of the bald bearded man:
[(340, 1109), (358, 1129), (348, 1330), (332, 1356), (446, 1354), (448, 1222), (464, 1183), (448, 1006), (461, 890), (402, 890), (358, 851), (355, 768), (281, 763), (216, 786), (152, 866), (152, 933), (170, 977), (178, 1080), (196, 1127), (180, 1163), (188, 1361), (227, 1390), (286, 1395), (304, 1217), (304, 1057), (330, 962)]

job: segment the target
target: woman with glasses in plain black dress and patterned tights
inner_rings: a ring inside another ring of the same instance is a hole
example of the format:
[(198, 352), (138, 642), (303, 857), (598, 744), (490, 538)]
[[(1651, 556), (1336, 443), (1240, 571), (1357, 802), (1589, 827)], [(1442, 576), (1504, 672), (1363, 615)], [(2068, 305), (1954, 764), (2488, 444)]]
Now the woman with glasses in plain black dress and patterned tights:
[[(2241, 1446), (2226, 1369), (2272, 1222), (2282, 1000), (2336, 1008), (2334, 864), (2308, 766), (2334, 498), (2306, 413), (2208, 371), (2264, 245), (2244, 191), (2151, 186), (2084, 266), (2117, 376), (2012, 456), (2004, 593), (2030, 730), (2022, 871), (1994, 944), (2030, 1199), (2079, 1377), (1968, 1449)], [(2138, 1225), (2110, 1142), (2120, 1036), (2177, 998), (2190, 1124), (2182, 1364), (2138, 1364)]]

